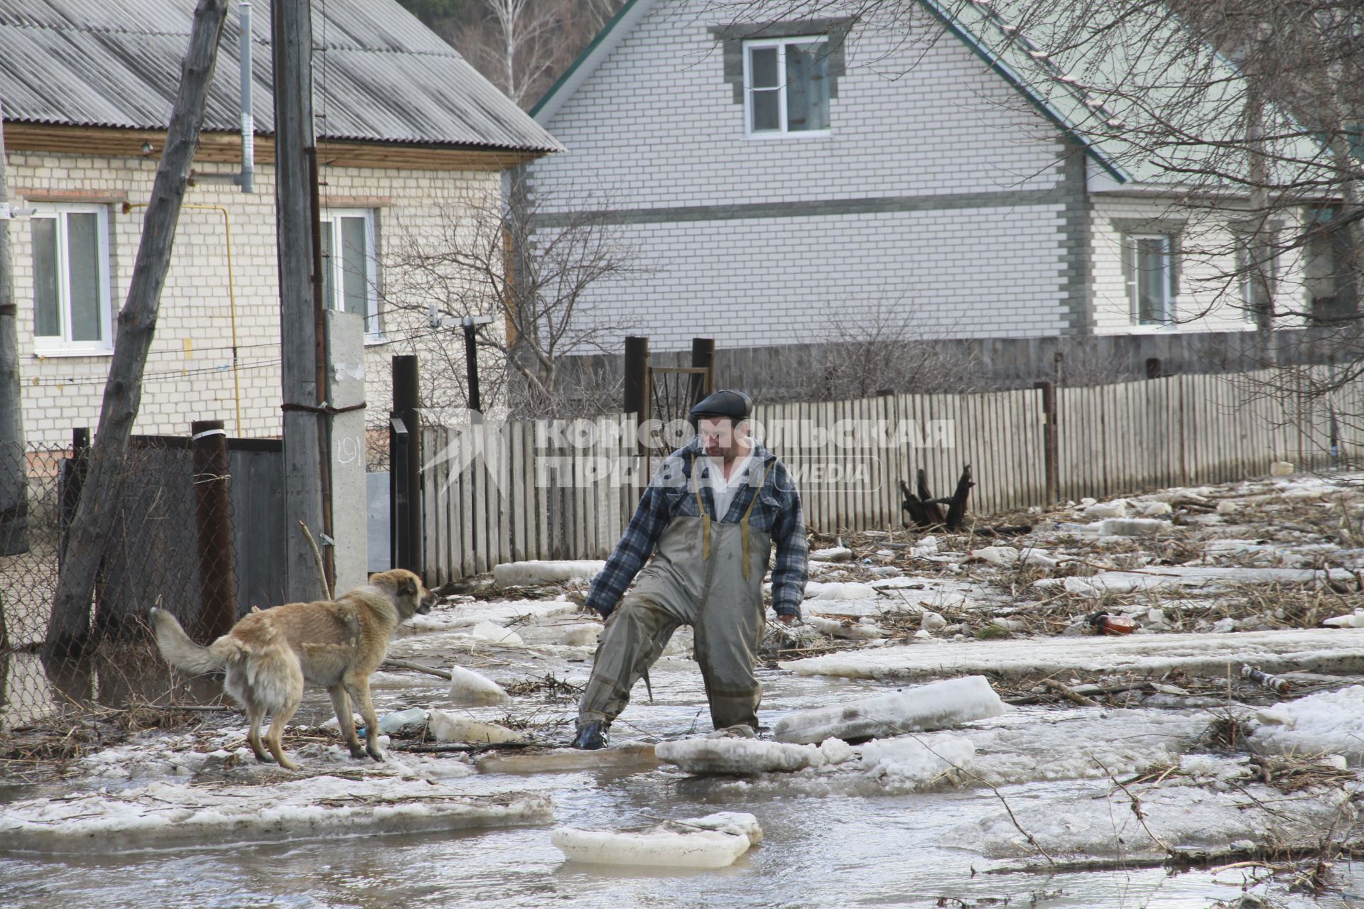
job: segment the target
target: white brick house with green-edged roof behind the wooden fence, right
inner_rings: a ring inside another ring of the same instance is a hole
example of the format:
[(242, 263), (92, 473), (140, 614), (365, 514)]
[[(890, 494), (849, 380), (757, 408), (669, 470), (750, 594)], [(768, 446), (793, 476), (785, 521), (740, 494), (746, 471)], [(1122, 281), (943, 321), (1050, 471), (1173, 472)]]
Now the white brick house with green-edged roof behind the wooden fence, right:
[(1176, 211), (1067, 129), (973, 33), (990, 4), (907, 5), (904, 29), (629, 0), (532, 109), (569, 149), (528, 165), (546, 210), (603, 211), (652, 267), (595, 290), (595, 318), (662, 350), (818, 341), (885, 307), (919, 337), (1254, 327), (1180, 262), (1225, 213)]

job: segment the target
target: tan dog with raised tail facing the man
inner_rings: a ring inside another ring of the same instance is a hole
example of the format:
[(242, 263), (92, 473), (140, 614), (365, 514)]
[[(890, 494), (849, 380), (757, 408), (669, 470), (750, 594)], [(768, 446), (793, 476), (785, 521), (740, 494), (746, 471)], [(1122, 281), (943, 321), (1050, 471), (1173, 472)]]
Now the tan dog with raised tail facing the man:
[[(296, 770), (299, 765), (284, 756), (280, 735), (299, 709), (304, 679), (331, 695), (351, 756), (363, 758), (368, 752), (383, 760), (376, 741), (379, 724), (370, 702), (370, 676), (383, 662), (398, 624), (416, 613), (426, 615), (434, 604), (435, 596), (415, 574), (394, 568), (371, 576), (370, 583), (340, 600), (291, 602), (252, 612), (207, 647), (194, 643), (165, 609), (151, 609), (150, 616), (157, 645), (172, 665), (195, 673), (226, 671), (222, 687), (247, 709), (251, 718), (247, 737), (256, 759), (270, 759), (261, 747), (261, 724), (269, 713), (265, 744), (281, 767)], [(364, 747), (355, 733), (351, 699), (364, 717)]]

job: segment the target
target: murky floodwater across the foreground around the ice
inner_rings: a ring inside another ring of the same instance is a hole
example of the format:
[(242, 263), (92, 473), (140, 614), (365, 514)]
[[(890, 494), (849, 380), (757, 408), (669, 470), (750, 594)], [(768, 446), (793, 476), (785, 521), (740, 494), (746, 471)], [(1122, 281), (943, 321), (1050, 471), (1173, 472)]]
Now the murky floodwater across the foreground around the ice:
[[(617, 739), (632, 735), (679, 737), (707, 725), (694, 665), (655, 675), (656, 702), (648, 703), (641, 685), (636, 703), (617, 724)], [(405, 683), (376, 691), (381, 713), (413, 705), (439, 707), (443, 687), (432, 683)], [(803, 679), (784, 672), (764, 673), (764, 685), (765, 721), (784, 710), (887, 690), (869, 681)], [(547, 710), (567, 715), (572, 705), (558, 703)], [(310, 699), (300, 720), (316, 721), (326, 713), (323, 700)], [(941, 905), (1210, 909), (1241, 905), (1245, 887), (1256, 875), (1263, 876), (1263, 871), (1249, 867), (1217, 874), (1173, 874), (1159, 868), (990, 874), (1011, 863), (983, 860), (968, 850), (940, 845), (945, 831), (971, 818), (1000, 811), (1000, 800), (989, 789), (812, 797), (780, 795), (772, 786), (750, 793), (745, 785), (686, 778), (657, 769), (517, 777), (480, 774), (456, 782), (471, 793), (550, 792), (555, 823), (561, 826), (626, 829), (649, 826), (664, 818), (747, 811), (758, 818), (764, 841), (732, 867), (719, 871), (569, 864), (550, 845), (548, 826), (44, 857), (4, 853), (4, 844), (0, 844), (0, 905), (33, 909)], [(1013, 807), (1020, 807), (1073, 796), (1078, 786), (1093, 785), (1034, 782), (1004, 786), (1001, 795)], [(1314, 899), (1288, 893), (1286, 879), (1279, 879), (1269, 890), (1274, 899), (1269, 905), (1284, 909), (1364, 906), (1364, 863), (1339, 864), (1337, 883), (1344, 886), (1344, 895)], [(1254, 887), (1254, 893), (1264, 895), (1266, 886)]]

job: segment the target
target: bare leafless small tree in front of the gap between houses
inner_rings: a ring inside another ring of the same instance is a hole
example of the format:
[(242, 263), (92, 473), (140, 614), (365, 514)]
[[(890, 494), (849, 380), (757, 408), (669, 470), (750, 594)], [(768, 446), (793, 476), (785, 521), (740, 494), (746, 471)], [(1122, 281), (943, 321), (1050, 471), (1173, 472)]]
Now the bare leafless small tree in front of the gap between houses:
[[(509, 179), (505, 196), (462, 195), (442, 207), (436, 230), (393, 244), (385, 262), (385, 307), (413, 331), (458, 331), (465, 316), (491, 315), (477, 330), (480, 390), (505, 394), (510, 416), (576, 416), (595, 395), (619, 397), (618, 380), (563, 375), (573, 353), (600, 352), (626, 328), (592, 312), (589, 290), (644, 270), (636, 252), (600, 210), (546, 211), (544, 200)], [(415, 342), (420, 343), (420, 341)], [(462, 345), (421, 345), (431, 383), (430, 406), (462, 407)], [(498, 372), (503, 375), (499, 376)]]

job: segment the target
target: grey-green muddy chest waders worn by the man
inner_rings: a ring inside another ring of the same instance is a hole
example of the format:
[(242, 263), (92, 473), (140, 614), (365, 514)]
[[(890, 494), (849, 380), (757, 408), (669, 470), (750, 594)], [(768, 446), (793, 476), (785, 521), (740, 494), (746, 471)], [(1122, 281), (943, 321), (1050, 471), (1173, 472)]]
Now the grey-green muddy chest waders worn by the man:
[(772, 538), (749, 526), (753, 502), (739, 523), (712, 521), (692, 472), (700, 518), (677, 517), (663, 530), (652, 561), (622, 597), (597, 642), (596, 661), (578, 707), (578, 726), (611, 725), (630, 702), (630, 690), (653, 665), (679, 626), (696, 631), (711, 722), (716, 729), (758, 726), (762, 698), (753, 675), (753, 656), (762, 639), (762, 576)]

